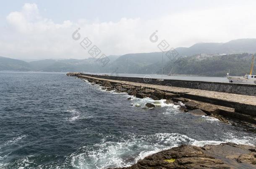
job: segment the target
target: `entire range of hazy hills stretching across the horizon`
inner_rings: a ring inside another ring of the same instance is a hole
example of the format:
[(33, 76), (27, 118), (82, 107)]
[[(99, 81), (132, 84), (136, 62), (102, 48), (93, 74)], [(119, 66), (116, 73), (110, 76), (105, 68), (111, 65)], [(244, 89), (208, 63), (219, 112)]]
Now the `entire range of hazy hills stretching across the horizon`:
[[(248, 71), (250, 56), (256, 53), (256, 39), (237, 39), (227, 43), (196, 43), (189, 48), (175, 49), (178, 57), (173, 59), (164, 54), (164, 73), (200, 74), (225, 76), (228, 69), (232, 75), (243, 75)], [(235, 54), (235, 55), (233, 55)], [(97, 59), (65, 59), (25, 62), (0, 57), (0, 70), (50, 71), (50, 72), (103, 72), (103, 73), (161, 73), (162, 52), (130, 53), (110, 55), (110, 62), (102, 67)]]

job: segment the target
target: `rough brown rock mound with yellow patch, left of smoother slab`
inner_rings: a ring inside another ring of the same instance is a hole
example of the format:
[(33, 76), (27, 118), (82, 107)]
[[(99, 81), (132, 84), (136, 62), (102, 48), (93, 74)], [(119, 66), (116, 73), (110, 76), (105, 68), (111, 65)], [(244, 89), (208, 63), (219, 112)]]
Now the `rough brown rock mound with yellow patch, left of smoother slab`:
[(201, 169), (204, 167), (230, 168), (221, 159), (215, 159), (213, 156), (204, 154), (200, 147), (183, 145), (147, 156), (139, 160), (137, 164), (123, 169)]

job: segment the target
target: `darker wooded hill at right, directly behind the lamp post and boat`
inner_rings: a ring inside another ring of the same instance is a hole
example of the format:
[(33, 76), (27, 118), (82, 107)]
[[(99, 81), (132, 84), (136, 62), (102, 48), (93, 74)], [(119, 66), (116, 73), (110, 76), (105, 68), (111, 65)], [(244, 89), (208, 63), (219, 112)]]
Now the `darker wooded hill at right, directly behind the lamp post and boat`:
[(175, 62), (168, 62), (164, 73), (169, 74), (195, 74), (205, 76), (225, 76), (230, 70), (232, 76), (248, 74), (251, 67), (251, 54), (231, 55), (193, 55), (179, 58)]

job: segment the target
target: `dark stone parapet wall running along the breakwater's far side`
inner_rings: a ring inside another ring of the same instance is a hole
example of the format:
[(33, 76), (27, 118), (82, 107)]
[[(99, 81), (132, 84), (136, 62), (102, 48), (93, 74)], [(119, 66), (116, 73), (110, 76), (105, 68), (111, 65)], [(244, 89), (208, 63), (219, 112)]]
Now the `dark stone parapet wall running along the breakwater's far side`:
[(192, 88), (207, 91), (217, 91), (223, 93), (242, 94), (248, 96), (256, 96), (256, 85), (251, 84), (239, 84), (239, 83), (220, 83), (220, 82), (206, 82), (206, 81), (183, 81), (183, 80), (171, 80), (165, 79), (164, 81), (158, 81), (157, 79), (144, 79), (144, 78), (131, 78), (131, 77), (119, 77), (119, 76), (102, 76), (83, 74), (84, 76), (92, 76), (95, 78), (105, 78), (118, 81), (131, 81), (137, 83), (148, 83), (157, 85), (166, 85), (182, 88)]

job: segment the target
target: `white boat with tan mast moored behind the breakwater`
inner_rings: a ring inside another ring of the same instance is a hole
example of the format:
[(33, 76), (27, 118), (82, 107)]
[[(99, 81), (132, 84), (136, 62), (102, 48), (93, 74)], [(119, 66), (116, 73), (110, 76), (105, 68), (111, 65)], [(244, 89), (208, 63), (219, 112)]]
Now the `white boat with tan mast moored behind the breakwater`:
[(256, 75), (253, 75), (254, 67), (254, 55), (252, 55), (252, 63), (250, 73), (245, 76), (229, 76), (227, 73), (227, 79), (230, 83), (246, 83), (246, 84), (256, 84)]

